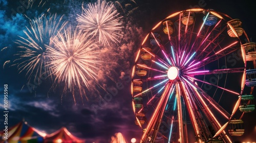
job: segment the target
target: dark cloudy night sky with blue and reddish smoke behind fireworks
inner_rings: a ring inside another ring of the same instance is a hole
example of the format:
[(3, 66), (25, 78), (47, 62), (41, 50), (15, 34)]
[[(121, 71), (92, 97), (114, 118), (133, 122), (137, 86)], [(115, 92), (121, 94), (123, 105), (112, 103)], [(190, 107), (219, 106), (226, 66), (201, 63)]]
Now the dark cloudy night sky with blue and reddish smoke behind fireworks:
[[(33, 0), (32, 0), (33, 1)], [(22, 1), (0, 0), (0, 91), (4, 84), (9, 88), (9, 127), (23, 119), (32, 127), (46, 133), (52, 133), (61, 127), (66, 127), (75, 136), (84, 138), (87, 142), (110, 142), (111, 136), (121, 132), (127, 141), (142, 135), (141, 129), (134, 124), (135, 116), (132, 109), (130, 93), (131, 73), (137, 50), (145, 35), (168, 15), (190, 8), (201, 7), (226, 13), (232, 18), (243, 22), (243, 28), (251, 41), (255, 41), (256, 9), (254, 1), (157, 1), (157, 0), (119, 0), (115, 5), (123, 23), (119, 37), (120, 42), (110, 45), (100, 45), (102, 65), (97, 71), (98, 84), (93, 83), (86, 98), (81, 99), (75, 94), (76, 104), (69, 91), (63, 92), (63, 84), (56, 84), (50, 79), (41, 80), (34, 88), (28, 88), (26, 72), (19, 73), (15, 63), (18, 36), (25, 36), (23, 30), (29, 27), (29, 19), (42, 13), (57, 13), (65, 15), (64, 20), (69, 25), (76, 26), (76, 15), (81, 14), (82, 3), (96, 1), (66, 0), (65, 2), (34, 0), (33, 5), (20, 3)], [(114, 4), (115, 1), (111, 1)], [(130, 4), (125, 8), (125, 4)], [(129, 10), (136, 8), (129, 13)], [(4, 49), (5, 47), (5, 49)], [(10, 60), (4, 66), (6, 61)], [(103, 87), (103, 88), (101, 88)], [(98, 92), (97, 92), (97, 91)], [(111, 93), (113, 96), (108, 96)], [(100, 97), (106, 97), (102, 100)], [(3, 96), (0, 98), (3, 111)], [(227, 103), (228, 104), (228, 103)], [(232, 106), (232, 105), (230, 105)], [(245, 118), (245, 134), (234, 140), (256, 141), (255, 111), (247, 113)], [(4, 128), (3, 118), (0, 118), (0, 129)]]

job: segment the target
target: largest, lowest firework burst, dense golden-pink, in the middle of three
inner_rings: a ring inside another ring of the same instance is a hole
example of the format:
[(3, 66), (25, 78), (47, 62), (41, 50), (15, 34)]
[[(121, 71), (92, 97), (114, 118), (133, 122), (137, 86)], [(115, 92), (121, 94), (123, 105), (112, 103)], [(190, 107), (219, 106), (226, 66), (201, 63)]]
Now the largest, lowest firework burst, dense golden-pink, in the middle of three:
[(95, 70), (99, 70), (97, 66), (101, 63), (98, 45), (87, 33), (70, 27), (58, 32), (52, 44), (47, 49), (50, 59), (47, 65), (56, 77), (55, 82), (64, 82), (70, 90), (78, 87), (81, 95), (84, 85), (89, 89), (90, 80), (97, 80)]

